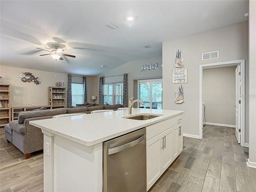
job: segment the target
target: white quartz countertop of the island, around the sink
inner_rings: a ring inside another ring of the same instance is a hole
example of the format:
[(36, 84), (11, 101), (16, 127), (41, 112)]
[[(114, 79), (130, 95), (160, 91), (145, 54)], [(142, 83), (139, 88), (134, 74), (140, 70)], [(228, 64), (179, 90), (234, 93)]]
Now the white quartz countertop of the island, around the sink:
[(138, 130), (145, 126), (177, 116), (184, 111), (158, 110), (158, 109), (132, 109), (132, 115), (139, 113), (162, 114), (162, 116), (149, 120), (133, 120), (122, 118), (128, 115), (128, 109), (77, 116), (67, 116), (52, 119), (34, 120), (29, 124), (74, 140), (81, 144), (91, 146), (117, 136)]

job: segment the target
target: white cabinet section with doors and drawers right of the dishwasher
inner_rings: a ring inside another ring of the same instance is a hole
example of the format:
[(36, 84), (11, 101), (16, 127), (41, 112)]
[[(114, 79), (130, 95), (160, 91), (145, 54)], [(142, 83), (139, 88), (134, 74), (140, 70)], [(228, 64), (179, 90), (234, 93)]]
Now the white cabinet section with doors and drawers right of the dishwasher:
[(183, 150), (183, 114), (146, 127), (147, 191)]

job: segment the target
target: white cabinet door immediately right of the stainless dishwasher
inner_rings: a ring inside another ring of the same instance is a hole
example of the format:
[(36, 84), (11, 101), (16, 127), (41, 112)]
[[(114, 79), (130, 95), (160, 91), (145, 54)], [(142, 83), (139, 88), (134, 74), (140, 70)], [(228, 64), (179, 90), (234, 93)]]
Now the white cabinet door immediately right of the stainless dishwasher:
[(160, 177), (160, 148), (162, 145), (161, 134), (147, 140), (147, 190)]

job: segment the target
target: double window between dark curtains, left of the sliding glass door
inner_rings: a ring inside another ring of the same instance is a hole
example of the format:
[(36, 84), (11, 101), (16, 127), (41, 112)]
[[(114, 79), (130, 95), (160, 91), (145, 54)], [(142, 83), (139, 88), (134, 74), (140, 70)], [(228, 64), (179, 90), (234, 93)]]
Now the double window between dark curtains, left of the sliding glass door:
[(104, 104), (123, 104), (123, 83), (106, 83), (103, 85)]

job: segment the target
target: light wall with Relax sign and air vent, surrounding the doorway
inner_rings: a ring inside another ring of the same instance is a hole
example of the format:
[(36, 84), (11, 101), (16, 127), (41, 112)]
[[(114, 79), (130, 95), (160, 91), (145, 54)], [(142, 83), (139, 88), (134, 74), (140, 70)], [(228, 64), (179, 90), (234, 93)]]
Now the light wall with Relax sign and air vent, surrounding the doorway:
[[(186, 56), (188, 83), (184, 87), (184, 102), (174, 103), (174, 92), (180, 84), (172, 84), (172, 70), (177, 50)], [(202, 61), (202, 53), (219, 50), (220, 57)], [(199, 136), (199, 65), (245, 59), (245, 92), (248, 96), (248, 22), (226, 26), (163, 42), (163, 107), (184, 110), (184, 133)], [(248, 138), (248, 98), (246, 97), (246, 134)]]

